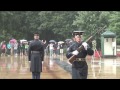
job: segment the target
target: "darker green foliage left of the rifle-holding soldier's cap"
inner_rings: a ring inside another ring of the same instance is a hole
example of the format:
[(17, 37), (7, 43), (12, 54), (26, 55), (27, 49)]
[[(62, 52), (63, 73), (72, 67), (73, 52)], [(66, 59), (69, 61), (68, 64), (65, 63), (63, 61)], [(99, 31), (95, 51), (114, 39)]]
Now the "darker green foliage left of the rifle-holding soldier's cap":
[(11, 37), (31, 40), (36, 31), (47, 41), (70, 38), (76, 14), (77, 11), (1, 11), (1, 40)]

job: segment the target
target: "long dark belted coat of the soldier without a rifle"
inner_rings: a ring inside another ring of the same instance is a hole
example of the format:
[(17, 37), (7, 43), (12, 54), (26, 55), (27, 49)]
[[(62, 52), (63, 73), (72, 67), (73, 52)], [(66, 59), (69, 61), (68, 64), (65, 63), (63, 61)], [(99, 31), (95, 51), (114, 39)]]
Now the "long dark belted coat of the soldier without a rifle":
[[(38, 51), (39, 53), (32, 53)], [(28, 48), (28, 60), (31, 61), (31, 72), (42, 72), (42, 61), (44, 60), (44, 46), (41, 41), (33, 40)]]

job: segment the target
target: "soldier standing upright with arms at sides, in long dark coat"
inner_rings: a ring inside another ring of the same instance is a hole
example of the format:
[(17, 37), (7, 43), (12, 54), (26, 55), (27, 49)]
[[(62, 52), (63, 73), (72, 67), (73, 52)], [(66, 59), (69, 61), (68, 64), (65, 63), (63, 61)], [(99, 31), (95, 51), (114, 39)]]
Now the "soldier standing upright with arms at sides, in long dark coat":
[(33, 79), (40, 79), (42, 72), (42, 61), (44, 61), (44, 46), (39, 40), (39, 33), (34, 34), (34, 40), (28, 48), (28, 59), (30, 63), (30, 71)]

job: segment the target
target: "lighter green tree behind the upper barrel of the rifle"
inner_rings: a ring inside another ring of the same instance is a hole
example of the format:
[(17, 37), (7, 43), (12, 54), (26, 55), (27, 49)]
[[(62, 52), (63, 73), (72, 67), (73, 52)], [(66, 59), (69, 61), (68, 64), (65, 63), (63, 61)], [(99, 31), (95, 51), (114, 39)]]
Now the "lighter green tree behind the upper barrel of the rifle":
[[(76, 19), (73, 21), (73, 25), (85, 31), (85, 36), (88, 37), (100, 27), (109, 26), (109, 15), (110, 12), (105, 11), (79, 11)], [(100, 48), (100, 34), (95, 39), (98, 45), (97, 48)]]

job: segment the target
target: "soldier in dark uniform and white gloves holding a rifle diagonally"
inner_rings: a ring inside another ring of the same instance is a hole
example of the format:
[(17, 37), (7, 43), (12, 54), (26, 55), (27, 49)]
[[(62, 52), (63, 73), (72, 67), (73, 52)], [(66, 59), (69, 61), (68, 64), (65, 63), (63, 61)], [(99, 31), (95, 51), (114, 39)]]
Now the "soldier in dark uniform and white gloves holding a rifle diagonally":
[[(85, 58), (87, 55), (93, 55), (94, 53), (90, 46), (81, 40), (83, 33), (83, 31), (73, 32), (75, 42), (67, 49), (66, 53), (67, 58), (76, 55), (76, 60), (72, 63), (72, 79), (87, 79), (88, 65)], [(77, 48), (81, 45), (84, 46), (84, 49), (78, 52)]]

